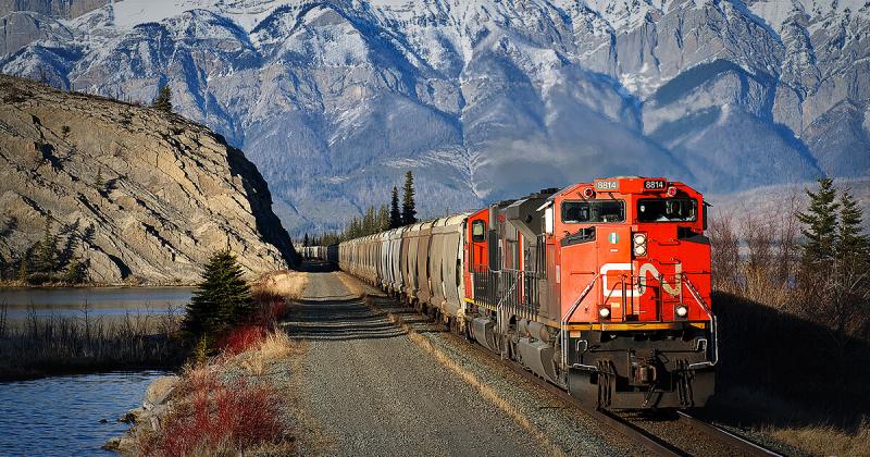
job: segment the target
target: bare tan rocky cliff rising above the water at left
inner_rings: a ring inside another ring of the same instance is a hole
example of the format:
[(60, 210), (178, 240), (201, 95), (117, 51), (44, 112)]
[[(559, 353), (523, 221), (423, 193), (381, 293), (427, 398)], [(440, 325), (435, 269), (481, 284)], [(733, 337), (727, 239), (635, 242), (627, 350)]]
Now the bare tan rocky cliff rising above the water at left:
[(181, 116), (0, 76), (0, 259), (76, 234), (105, 283), (190, 283), (215, 249), (251, 272), (295, 252), (244, 153)]

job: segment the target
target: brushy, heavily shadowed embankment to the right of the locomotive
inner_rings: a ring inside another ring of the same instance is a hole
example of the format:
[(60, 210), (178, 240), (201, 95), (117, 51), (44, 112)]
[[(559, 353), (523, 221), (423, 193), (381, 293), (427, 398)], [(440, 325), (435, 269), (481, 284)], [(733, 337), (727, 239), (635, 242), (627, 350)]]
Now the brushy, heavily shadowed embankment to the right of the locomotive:
[(870, 304), (832, 271), (801, 272), (795, 212), (711, 221), (721, 360), (707, 410), (811, 454), (870, 455)]

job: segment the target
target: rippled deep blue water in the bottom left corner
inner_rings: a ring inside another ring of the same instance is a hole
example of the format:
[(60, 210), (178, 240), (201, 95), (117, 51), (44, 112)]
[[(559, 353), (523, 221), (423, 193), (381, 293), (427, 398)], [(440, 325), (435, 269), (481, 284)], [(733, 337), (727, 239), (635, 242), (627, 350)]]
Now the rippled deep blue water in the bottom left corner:
[[(111, 454), (102, 445), (127, 431), (117, 418), (141, 405), (159, 371), (0, 382), (0, 455)], [(100, 423), (107, 419), (105, 423)]]

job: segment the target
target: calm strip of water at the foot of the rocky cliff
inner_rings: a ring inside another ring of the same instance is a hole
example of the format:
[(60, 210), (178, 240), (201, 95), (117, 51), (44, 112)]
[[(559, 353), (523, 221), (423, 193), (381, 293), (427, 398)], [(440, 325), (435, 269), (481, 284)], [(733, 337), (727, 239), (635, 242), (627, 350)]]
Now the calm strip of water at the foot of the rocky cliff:
[(0, 288), (0, 306), (15, 325), (30, 313), (37, 317), (121, 318), (126, 313), (182, 312), (191, 287), (48, 287)]

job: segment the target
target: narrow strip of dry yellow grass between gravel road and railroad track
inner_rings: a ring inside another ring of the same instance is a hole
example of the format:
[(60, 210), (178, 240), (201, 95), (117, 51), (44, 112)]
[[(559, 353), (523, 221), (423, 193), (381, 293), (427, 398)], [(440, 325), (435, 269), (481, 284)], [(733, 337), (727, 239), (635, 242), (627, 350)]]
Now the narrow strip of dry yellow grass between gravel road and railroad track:
[[(345, 285), (348, 285), (348, 282), (353, 282), (353, 280), (341, 280), (345, 282)], [(348, 288), (350, 286), (348, 285)], [(357, 288), (359, 291), (359, 288)], [(373, 309), (377, 310), (378, 312), (386, 312), (387, 318), (400, 325), (405, 331), (408, 332), (408, 338), (418, 345), (420, 348), (425, 350), (426, 353), (431, 354), (435, 360), (440, 363), (443, 367), (447, 368), (448, 370), (452, 371), (459, 378), (462, 379), (465, 383), (474, 387), (477, 392), (481, 393), (487, 402), (495, 405), (498, 409), (501, 409), (506, 412), (511, 419), (517, 421), (517, 423), (525, 430), (533, 440), (535, 440), (538, 445), (540, 445), (542, 450), (544, 450), (547, 455), (550, 456), (564, 456), (566, 453), (557, 446), (552, 441), (549, 440), (547, 434), (535, 427), (531, 420), (520, 411), (515, 406), (513, 406), (510, 402), (505, 399), (501, 395), (498, 394), (493, 387), (490, 387), (485, 382), (481, 381), (474, 373), (467, 370), (461, 365), (457, 363), (453, 359), (451, 359), (447, 354), (443, 350), (438, 349), (437, 347), (433, 346), (432, 343), (425, 336), (417, 333), (413, 328), (408, 325), (400, 317), (393, 314), (389, 311), (384, 311), (383, 309), (377, 308), (374, 302), (366, 296), (365, 299), (366, 304), (372, 307)]]

